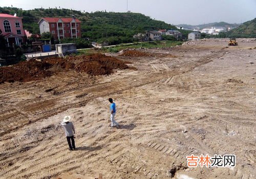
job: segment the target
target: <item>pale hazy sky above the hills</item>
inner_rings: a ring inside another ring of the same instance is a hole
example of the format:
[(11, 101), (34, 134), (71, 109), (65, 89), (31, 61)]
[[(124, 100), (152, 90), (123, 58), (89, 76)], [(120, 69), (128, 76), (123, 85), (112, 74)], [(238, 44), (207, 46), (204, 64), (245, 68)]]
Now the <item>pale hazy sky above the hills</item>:
[[(126, 12), (127, 0), (0, 0), (0, 6), (34, 8), (67, 8), (83, 12)], [(128, 0), (128, 10), (163, 20), (168, 24), (199, 25), (225, 21), (244, 23), (256, 17), (256, 0)]]

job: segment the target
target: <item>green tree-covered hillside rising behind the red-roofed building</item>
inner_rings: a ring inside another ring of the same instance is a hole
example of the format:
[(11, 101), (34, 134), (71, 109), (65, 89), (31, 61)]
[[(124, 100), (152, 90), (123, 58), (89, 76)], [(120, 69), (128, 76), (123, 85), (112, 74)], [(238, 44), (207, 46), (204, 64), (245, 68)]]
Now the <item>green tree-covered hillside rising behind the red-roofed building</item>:
[(0, 7), (0, 13), (14, 14), (23, 17), (24, 29), (32, 33), (39, 33), (37, 25), (41, 17), (72, 17), (82, 21), (83, 38), (90, 41), (111, 41), (112, 44), (130, 42), (135, 33), (155, 29), (176, 29), (175, 26), (164, 21), (153, 20), (140, 13), (119, 12), (80, 12), (72, 9), (33, 9)]

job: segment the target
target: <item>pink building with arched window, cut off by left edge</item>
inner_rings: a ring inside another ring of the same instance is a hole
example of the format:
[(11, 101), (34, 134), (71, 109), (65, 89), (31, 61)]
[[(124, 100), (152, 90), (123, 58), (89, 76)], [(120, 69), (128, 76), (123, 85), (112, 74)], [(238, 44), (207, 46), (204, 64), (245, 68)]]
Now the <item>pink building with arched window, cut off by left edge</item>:
[(6, 39), (7, 46), (17, 46), (25, 40), (22, 17), (0, 13), (0, 29)]

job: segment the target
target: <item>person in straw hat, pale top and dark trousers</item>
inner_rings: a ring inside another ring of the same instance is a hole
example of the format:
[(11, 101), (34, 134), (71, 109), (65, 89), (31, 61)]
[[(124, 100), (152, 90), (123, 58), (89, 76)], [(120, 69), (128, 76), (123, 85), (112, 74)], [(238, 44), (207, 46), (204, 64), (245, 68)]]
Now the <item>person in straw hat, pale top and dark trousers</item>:
[(74, 134), (76, 132), (75, 132), (75, 127), (73, 123), (70, 122), (70, 119), (71, 119), (70, 116), (65, 116), (63, 121), (61, 122), (61, 125), (66, 132), (66, 137), (69, 144), (69, 150), (75, 150), (76, 146), (75, 146)]

